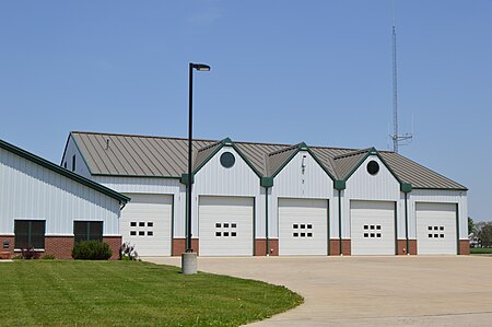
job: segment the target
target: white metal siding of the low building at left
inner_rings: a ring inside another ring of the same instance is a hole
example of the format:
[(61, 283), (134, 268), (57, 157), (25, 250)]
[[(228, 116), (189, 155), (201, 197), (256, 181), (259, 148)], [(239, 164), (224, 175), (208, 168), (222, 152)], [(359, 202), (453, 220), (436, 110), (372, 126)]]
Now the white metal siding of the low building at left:
[(74, 220), (103, 221), (105, 235), (119, 235), (119, 202), (90, 187), (0, 149), (0, 233), (14, 219), (46, 220), (47, 235), (73, 235)]

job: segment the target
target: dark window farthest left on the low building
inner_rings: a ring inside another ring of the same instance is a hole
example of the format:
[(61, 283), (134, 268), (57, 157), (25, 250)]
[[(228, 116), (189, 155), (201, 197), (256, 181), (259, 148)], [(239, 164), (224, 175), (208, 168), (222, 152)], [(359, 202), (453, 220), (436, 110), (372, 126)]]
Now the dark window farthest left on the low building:
[(15, 220), (15, 248), (45, 248), (45, 226), (44, 220)]

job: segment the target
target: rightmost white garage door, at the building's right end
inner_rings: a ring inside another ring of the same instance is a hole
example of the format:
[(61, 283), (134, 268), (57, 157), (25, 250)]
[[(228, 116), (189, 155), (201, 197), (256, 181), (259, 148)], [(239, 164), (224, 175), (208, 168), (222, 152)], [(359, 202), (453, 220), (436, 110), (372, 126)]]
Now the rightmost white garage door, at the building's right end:
[(456, 205), (415, 203), (417, 253), (456, 255)]

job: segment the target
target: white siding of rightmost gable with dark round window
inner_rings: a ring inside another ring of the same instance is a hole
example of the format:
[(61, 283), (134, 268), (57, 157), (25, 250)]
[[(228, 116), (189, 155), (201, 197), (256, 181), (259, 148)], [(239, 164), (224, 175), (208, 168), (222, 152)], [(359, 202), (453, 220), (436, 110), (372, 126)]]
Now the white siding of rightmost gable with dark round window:
[[(379, 172), (376, 175), (367, 173), (367, 163), (376, 161), (379, 164)], [(348, 238), (351, 235), (350, 224), (350, 201), (351, 200), (371, 200), (371, 201), (399, 201), (401, 198), (400, 183), (395, 178), (391, 172), (384, 165), (377, 155), (370, 155), (359, 168), (347, 180), (347, 189), (343, 191), (342, 199), (342, 237)], [(398, 205), (401, 209), (401, 205)], [(397, 211), (398, 225), (405, 224), (405, 212)], [(403, 236), (405, 237), (405, 234)]]

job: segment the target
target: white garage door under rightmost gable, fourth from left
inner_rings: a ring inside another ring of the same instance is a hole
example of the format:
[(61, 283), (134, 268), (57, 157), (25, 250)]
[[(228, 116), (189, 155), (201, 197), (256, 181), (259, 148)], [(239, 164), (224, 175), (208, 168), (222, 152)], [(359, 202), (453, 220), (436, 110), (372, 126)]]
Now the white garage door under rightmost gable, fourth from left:
[(395, 255), (395, 202), (351, 201), (352, 255)]

